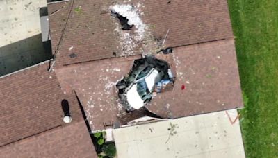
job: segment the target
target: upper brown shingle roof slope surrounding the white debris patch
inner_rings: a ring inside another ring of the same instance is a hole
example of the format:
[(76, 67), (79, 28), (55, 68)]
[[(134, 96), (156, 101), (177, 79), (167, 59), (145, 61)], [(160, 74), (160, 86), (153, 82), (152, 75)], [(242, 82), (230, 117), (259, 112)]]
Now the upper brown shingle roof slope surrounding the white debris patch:
[[(233, 36), (226, 0), (167, 2), (164, 0), (126, 2), (134, 6), (140, 3), (137, 9), (142, 13), (140, 17), (148, 27), (147, 33), (151, 34), (143, 42), (133, 44), (135, 48), (129, 53), (142, 53), (142, 49), (146, 50), (146, 45), (152, 45), (154, 39), (163, 38), (168, 29), (170, 31), (165, 46), (173, 47)], [(67, 1), (48, 6), (49, 13), (55, 12), (49, 16), (53, 51), (60, 41), (71, 3), (72, 1)], [(56, 64), (65, 65), (112, 58), (113, 52), (116, 55), (126, 55), (121, 48), (120, 35), (115, 31), (118, 22), (111, 16), (109, 10), (113, 4), (114, 1), (75, 1), (63, 40), (60, 42)], [(76, 8), (80, 8), (77, 9), (79, 11), (74, 10)], [(156, 47), (156, 44), (152, 46)], [(76, 58), (70, 58), (72, 53)]]

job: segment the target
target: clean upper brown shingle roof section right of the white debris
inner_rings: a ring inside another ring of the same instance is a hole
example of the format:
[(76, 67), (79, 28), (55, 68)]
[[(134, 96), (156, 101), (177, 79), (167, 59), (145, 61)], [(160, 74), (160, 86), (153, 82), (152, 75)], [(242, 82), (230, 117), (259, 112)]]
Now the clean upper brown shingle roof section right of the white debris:
[(163, 37), (169, 29), (166, 46), (185, 46), (233, 37), (226, 0), (144, 1), (142, 19), (154, 25), (154, 37)]

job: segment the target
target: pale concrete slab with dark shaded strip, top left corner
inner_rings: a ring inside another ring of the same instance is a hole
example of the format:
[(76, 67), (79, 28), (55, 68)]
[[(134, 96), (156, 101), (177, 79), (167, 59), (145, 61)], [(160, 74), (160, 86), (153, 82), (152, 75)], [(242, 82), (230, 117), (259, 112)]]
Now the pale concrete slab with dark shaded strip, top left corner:
[(40, 28), (45, 6), (47, 0), (0, 0), (0, 76), (50, 58)]

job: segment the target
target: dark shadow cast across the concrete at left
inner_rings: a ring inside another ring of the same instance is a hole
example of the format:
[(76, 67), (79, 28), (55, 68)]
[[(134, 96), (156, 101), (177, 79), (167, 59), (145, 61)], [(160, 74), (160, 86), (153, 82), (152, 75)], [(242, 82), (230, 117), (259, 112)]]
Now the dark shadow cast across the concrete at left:
[(42, 34), (0, 47), (0, 76), (30, 67), (51, 58), (50, 40), (42, 42)]

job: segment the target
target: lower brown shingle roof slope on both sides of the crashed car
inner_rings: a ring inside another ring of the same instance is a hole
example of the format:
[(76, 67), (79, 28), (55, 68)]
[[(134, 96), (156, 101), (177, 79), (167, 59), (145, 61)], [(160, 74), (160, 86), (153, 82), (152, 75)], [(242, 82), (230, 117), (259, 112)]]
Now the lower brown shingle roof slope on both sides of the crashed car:
[[(133, 58), (112, 58), (56, 69), (65, 90), (75, 89), (92, 130), (104, 122), (124, 123), (115, 83), (129, 73)], [(172, 91), (157, 94), (148, 109), (164, 118), (177, 118), (242, 107), (234, 40), (220, 40), (174, 49), (177, 80)], [(181, 90), (181, 85), (186, 89)]]

